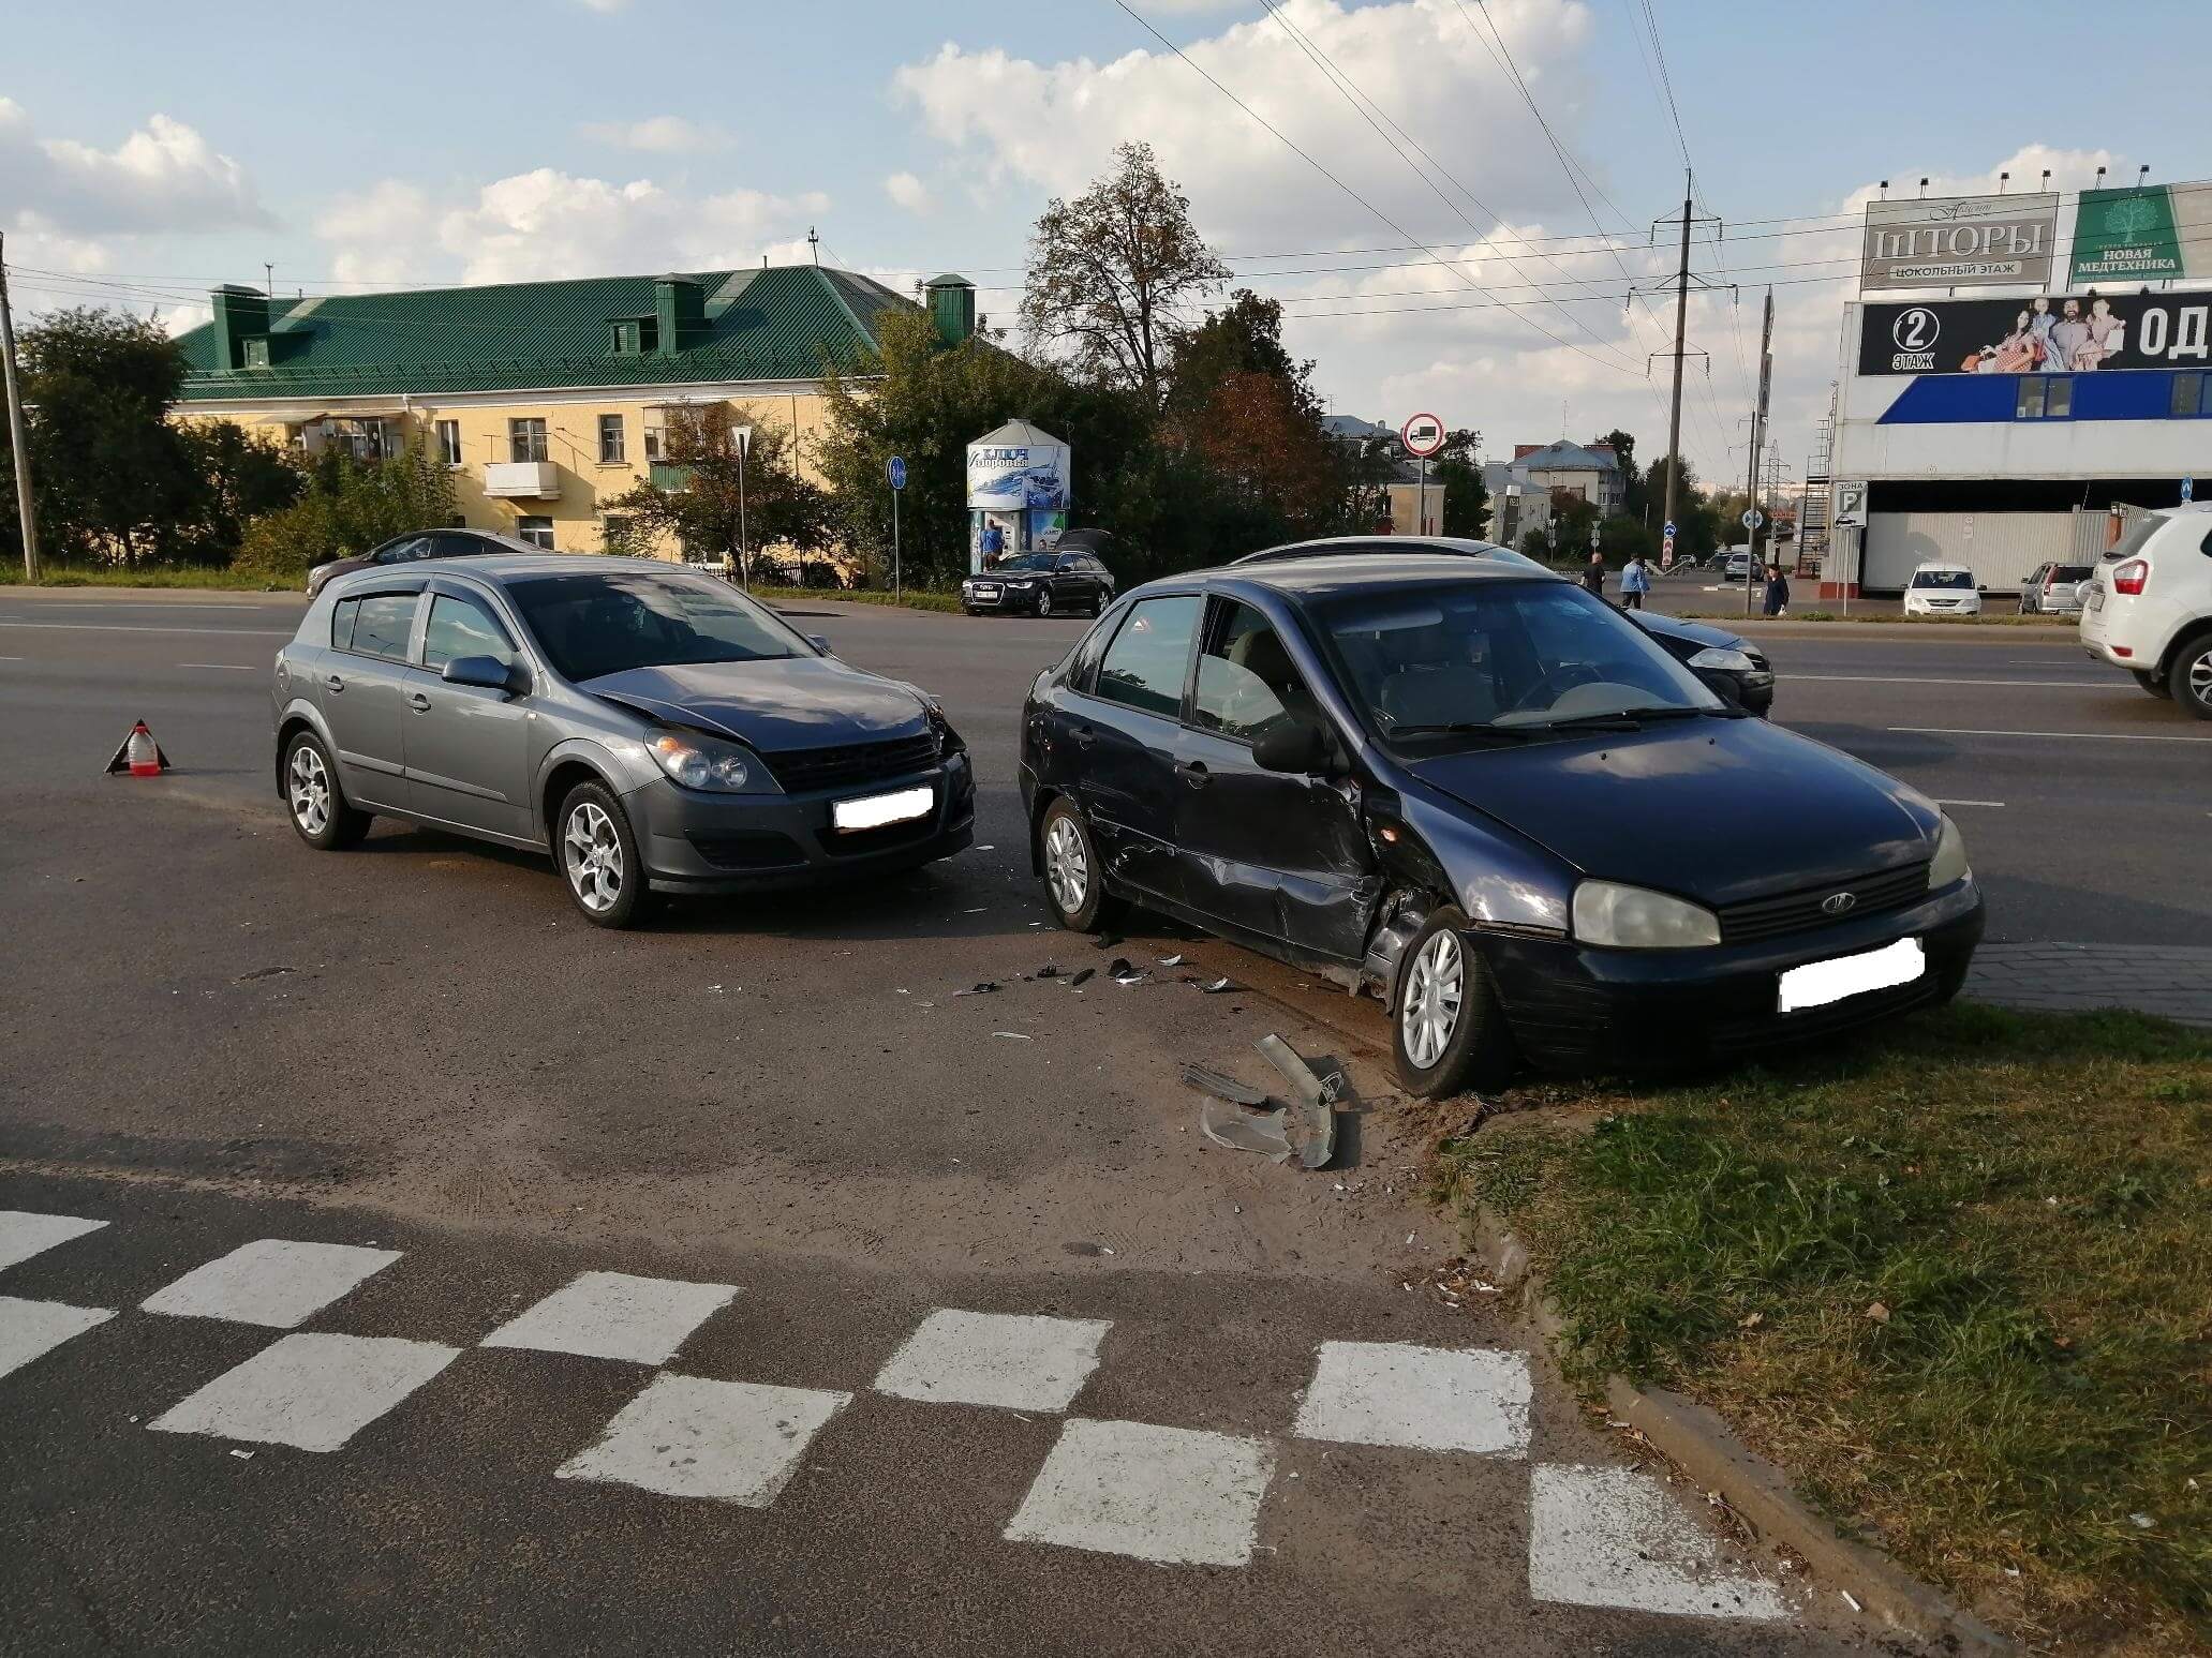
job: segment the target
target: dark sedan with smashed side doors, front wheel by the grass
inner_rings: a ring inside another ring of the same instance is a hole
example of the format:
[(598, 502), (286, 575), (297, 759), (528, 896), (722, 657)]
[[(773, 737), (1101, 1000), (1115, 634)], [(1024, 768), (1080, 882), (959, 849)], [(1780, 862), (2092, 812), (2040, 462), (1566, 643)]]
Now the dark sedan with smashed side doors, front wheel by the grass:
[(1422, 1094), (1887, 1019), (1982, 935), (1933, 802), (1504, 559), (1137, 588), (1037, 676), (1020, 780), (1066, 926), (1135, 900), (1374, 988)]

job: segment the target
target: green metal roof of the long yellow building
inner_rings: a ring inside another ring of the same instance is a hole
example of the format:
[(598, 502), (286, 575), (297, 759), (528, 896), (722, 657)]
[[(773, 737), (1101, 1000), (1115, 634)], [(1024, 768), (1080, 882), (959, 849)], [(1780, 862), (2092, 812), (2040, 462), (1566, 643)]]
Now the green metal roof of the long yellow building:
[(217, 367), (215, 325), (181, 336), (186, 402), (418, 391), (657, 387), (814, 380), (823, 360), (878, 345), (876, 321), (920, 307), (843, 270), (686, 272), (706, 292), (706, 338), (675, 354), (617, 354), (611, 323), (655, 314), (653, 276), (588, 276), (270, 301), (272, 365)]

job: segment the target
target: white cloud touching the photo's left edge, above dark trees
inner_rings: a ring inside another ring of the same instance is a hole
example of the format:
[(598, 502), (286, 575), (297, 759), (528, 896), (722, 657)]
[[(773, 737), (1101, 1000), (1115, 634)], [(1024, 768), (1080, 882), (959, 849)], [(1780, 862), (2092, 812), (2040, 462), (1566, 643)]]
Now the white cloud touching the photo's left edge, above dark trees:
[(0, 97), (0, 199), (73, 232), (239, 230), (274, 223), (252, 179), (168, 115), (113, 150), (38, 137), (29, 111)]

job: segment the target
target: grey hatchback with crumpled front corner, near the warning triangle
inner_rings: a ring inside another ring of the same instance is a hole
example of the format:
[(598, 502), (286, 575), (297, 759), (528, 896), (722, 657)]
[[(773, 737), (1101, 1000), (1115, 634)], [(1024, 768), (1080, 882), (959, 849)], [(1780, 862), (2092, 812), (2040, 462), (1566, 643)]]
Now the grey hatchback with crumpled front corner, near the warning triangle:
[(975, 833), (936, 699), (653, 559), (341, 575), (276, 654), (274, 716), (310, 847), (394, 816), (549, 851), (599, 926), (648, 891), (907, 869)]

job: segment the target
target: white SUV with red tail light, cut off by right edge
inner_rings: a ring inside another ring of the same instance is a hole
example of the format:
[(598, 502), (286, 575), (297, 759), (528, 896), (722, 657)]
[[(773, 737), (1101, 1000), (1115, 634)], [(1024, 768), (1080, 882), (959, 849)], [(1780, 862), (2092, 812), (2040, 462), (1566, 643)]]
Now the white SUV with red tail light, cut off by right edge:
[(2139, 513), (2081, 606), (2081, 650), (2212, 721), (2212, 502)]

